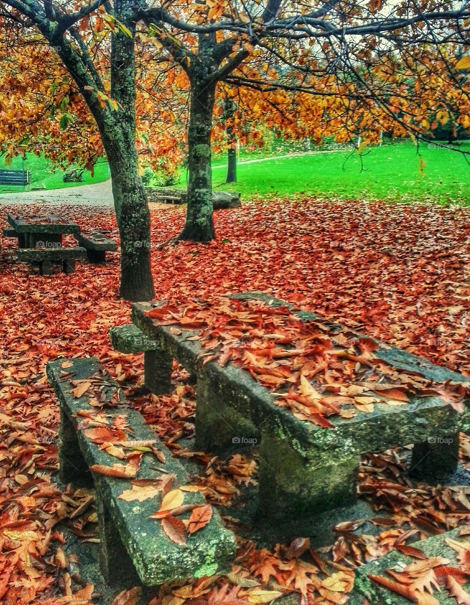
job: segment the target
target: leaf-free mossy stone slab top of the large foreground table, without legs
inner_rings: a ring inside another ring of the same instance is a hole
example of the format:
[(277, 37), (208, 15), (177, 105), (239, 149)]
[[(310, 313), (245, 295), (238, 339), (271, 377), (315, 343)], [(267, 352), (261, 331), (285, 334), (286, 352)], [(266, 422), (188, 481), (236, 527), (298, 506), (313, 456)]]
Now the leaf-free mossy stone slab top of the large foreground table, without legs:
[[(250, 294), (254, 298), (253, 294)], [(274, 299), (269, 298), (270, 301)], [(278, 304), (285, 304), (277, 301)], [(304, 459), (312, 469), (329, 466), (331, 460), (336, 463), (348, 462), (356, 454), (384, 451), (391, 447), (404, 446), (409, 443), (420, 443), (428, 437), (446, 437), (459, 430), (470, 430), (470, 407), (466, 406), (463, 413), (456, 413), (440, 397), (416, 397), (404, 406), (391, 406), (386, 399), (375, 405), (373, 413), (358, 413), (355, 417), (345, 419), (340, 416), (329, 417), (333, 428), (321, 428), (311, 422), (298, 420), (286, 408), (275, 404), (274, 396), (268, 388), (259, 384), (248, 371), (228, 363), (222, 368), (217, 361), (203, 364), (204, 358), (199, 341), (189, 341), (195, 335), (195, 330), (181, 330), (181, 335), (173, 334), (171, 326), (158, 326), (153, 324), (152, 318), (146, 313), (152, 305), (159, 303), (135, 303), (132, 307), (132, 321), (150, 339), (163, 342), (164, 348), (177, 359), (190, 373), (196, 374), (198, 382), (204, 381), (205, 400), (207, 405), (217, 414), (220, 409), (220, 438), (221, 450), (231, 445), (232, 437), (240, 436), (240, 427), (237, 421), (243, 419), (245, 428), (251, 427), (249, 437), (260, 439), (263, 433), (272, 438), (288, 442), (292, 448)], [(301, 319), (315, 318), (312, 313), (298, 312)], [(331, 324), (334, 325), (334, 324)], [(341, 326), (338, 325), (338, 330)], [(431, 364), (424, 359), (409, 353), (399, 351), (381, 343), (381, 348), (375, 351), (379, 358), (397, 365), (404, 370), (418, 370), (426, 378), (437, 381), (470, 382), (460, 374), (446, 370), (446, 368)], [(222, 408), (221, 408), (222, 406)], [(231, 417), (226, 418), (225, 413)], [(228, 424), (233, 424), (230, 433)], [(213, 434), (211, 439), (219, 436)], [(197, 425), (196, 435), (203, 426)], [(242, 435), (243, 436), (243, 435)]]

